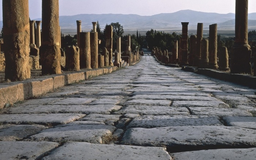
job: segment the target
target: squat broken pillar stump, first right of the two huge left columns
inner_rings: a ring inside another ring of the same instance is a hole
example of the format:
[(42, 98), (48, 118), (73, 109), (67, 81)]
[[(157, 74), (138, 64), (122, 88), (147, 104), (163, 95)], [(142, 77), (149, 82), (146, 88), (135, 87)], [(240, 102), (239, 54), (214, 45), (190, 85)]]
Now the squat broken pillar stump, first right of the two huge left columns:
[(66, 65), (68, 71), (79, 71), (79, 48), (76, 46), (68, 46), (66, 48)]

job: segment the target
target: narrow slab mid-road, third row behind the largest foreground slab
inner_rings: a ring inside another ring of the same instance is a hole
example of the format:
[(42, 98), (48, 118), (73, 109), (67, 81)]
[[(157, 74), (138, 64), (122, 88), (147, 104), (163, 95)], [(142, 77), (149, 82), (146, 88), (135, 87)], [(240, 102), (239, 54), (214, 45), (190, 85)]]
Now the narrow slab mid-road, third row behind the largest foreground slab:
[(172, 101), (169, 100), (145, 100), (145, 99), (133, 99), (123, 103), (123, 105), (161, 105), (170, 106)]

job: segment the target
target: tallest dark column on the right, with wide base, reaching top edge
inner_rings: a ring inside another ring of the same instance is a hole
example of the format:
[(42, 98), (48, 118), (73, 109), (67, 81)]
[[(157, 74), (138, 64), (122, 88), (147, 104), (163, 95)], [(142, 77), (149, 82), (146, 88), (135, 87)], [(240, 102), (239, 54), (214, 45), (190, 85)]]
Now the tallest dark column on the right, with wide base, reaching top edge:
[(252, 50), (248, 44), (248, 0), (236, 0), (234, 53), (231, 55), (231, 73), (252, 73)]

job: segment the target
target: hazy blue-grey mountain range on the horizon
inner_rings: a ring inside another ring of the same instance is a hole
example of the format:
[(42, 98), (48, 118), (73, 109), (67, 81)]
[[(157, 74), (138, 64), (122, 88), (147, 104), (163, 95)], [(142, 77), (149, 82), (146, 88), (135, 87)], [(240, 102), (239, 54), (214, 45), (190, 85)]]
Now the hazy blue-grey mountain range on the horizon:
[[(103, 29), (106, 24), (119, 22), (124, 30), (172, 29), (181, 30), (181, 22), (189, 22), (189, 29), (196, 29), (197, 23), (204, 23), (204, 29), (217, 23), (218, 29), (234, 30), (235, 14), (219, 14), (181, 10), (174, 13), (161, 13), (153, 16), (123, 15), (123, 14), (80, 14), (60, 16), (61, 29), (76, 29), (76, 20), (82, 20), (82, 30), (92, 29), (91, 22), (99, 21)], [(41, 20), (41, 19), (35, 19)], [(0, 21), (0, 26), (3, 21)], [(248, 14), (248, 28), (256, 29), (256, 13)]]

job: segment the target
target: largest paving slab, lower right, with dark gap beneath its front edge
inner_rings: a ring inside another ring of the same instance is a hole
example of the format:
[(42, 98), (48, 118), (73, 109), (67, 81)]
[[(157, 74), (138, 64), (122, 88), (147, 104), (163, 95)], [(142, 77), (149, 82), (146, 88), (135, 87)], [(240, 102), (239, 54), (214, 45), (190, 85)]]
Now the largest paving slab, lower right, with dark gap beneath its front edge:
[(130, 128), (122, 144), (141, 146), (166, 146), (170, 151), (181, 152), (197, 147), (256, 146), (256, 130), (222, 126), (176, 126), (159, 128)]

